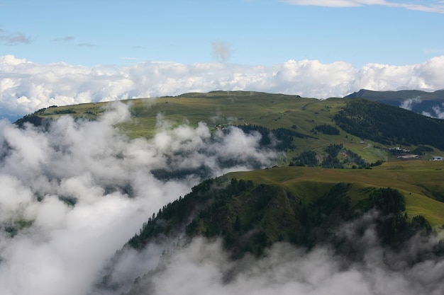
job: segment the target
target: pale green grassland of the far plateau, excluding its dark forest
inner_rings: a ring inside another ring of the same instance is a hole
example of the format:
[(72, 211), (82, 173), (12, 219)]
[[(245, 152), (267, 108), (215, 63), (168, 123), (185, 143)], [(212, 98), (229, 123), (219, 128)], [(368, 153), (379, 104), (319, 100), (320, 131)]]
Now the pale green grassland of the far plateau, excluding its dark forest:
[[(311, 129), (316, 125), (334, 125), (331, 118), (345, 105), (342, 98), (318, 100), (316, 98), (299, 98), (283, 94), (257, 93), (245, 91), (214, 91), (211, 93), (187, 93), (182, 96), (167, 98), (142, 98), (128, 100), (131, 104), (133, 122), (120, 127), (131, 138), (152, 137), (155, 133), (157, 114), (162, 114), (165, 120), (174, 125), (187, 123), (197, 125), (206, 122), (209, 127), (217, 124), (226, 125), (262, 125), (270, 129), (284, 127), (291, 129), (297, 126), (296, 131), (318, 139), (296, 139), (296, 150), (287, 154), (291, 159), (301, 151), (314, 150), (320, 153), (331, 143), (343, 144), (345, 148), (360, 154), (369, 163), (378, 159), (387, 160), (389, 155), (380, 149), (374, 149), (374, 142), (361, 142), (361, 139), (341, 130), (340, 135), (326, 135)], [(103, 112), (103, 103), (89, 103), (66, 106), (57, 109), (71, 108), (76, 111), (70, 114), (74, 117), (94, 118), (93, 114)], [(48, 115), (53, 112), (48, 108), (40, 112), (40, 117), (55, 117)], [(85, 113), (88, 112), (88, 113)], [(379, 144), (377, 144), (379, 145)]]

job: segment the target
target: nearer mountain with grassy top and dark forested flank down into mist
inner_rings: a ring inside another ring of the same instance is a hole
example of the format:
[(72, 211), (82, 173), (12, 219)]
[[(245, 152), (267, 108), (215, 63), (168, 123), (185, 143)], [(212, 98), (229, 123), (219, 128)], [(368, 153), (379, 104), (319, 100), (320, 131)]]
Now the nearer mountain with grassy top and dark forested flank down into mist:
[[(436, 224), (444, 221), (440, 213), (444, 203), (423, 195), (440, 187), (438, 194), (444, 196), (444, 187), (436, 182), (442, 165), (435, 164), (426, 168), (423, 163), (384, 163), (372, 170), (340, 173), (333, 169), (281, 167), (205, 180), (150, 217), (106, 267), (97, 288), (106, 293), (122, 290), (125, 285), (128, 293), (123, 294), (150, 290), (155, 277), (164, 272), (164, 263), (172, 259), (170, 255), (199, 237), (222, 241), (231, 261), (224, 274), (226, 284), (239, 274), (245, 257), (247, 261), (249, 255), (265, 259), (277, 243), (306, 251), (327, 245), (345, 269), (347, 265), (360, 265), (369, 259), (365, 245), (369, 241), (365, 240), (370, 229), (374, 229), (377, 241), (370, 248), (384, 250), (384, 267), (389, 270), (396, 271), (404, 263), (421, 267), (426, 261), (442, 261), (443, 241), (431, 242), (430, 238), (436, 237)], [(424, 169), (428, 173), (419, 173)], [(392, 178), (394, 171), (399, 173), (396, 179)], [(390, 187), (381, 187), (387, 184)], [(424, 216), (434, 216), (432, 223)], [(411, 248), (412, 240), (416, 240), (416, 248)], [(113, 279), (119, 261), (125, 260), (124, 253), (136, 250), (143, 255), (144, 249), (165, 241), (174, 241), (174, 245), (165, 248), (158, 268), (141, 270), (126, 282)], [(391, 257), (391, 253), (399, 255)]]

